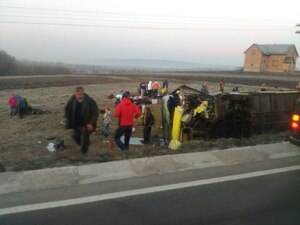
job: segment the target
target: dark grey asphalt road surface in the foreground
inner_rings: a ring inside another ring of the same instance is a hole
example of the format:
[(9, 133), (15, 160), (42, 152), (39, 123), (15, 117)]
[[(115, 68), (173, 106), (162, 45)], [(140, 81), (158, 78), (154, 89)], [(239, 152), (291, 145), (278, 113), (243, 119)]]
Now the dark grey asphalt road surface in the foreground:
[[(299, 162), (299, 157), (289, 157), (37, 193), (10, 194), (1, 196), (2, 208), (4, 205), (12, 207), (25, 203), (78, 198), (79, 195), (89, 198), (91, 195), (135, 190), (131, 196), (128, 194), (109, 197), (107, 200), (49, 208), (53, 203), (41, 210), (37, 208), (2, 215), (0, 224), (299, 224)], [(281, 170), (291, 166), (297, 167), (293, 170)], [(277, 171), (278, 168), (280, 171)], [(232, 177), (235, 179), (231, 179)], [(165, 191), (137, 194), (139, 190), (149, 187), (151, 189), (198, 181), (200, 183), (194, 186), (176, 186), (177, 188)]]

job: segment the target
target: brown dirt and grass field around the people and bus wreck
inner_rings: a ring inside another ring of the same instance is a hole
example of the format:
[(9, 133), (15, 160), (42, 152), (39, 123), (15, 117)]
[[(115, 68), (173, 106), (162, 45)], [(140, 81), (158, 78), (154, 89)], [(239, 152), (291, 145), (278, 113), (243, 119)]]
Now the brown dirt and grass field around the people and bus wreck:
[[(225, 149), (259, 143), (279, 142), (287, 139), (288, 133), (273, 133), (260, 136), (253, 136), (249, 139), (219, 139), (219, 140), (195, 140), (184, 144), (176, 152), (169, 150), (167, 146), (153, 145), (131, 145), (128, 154), (123, 154), (116, 146), (112, 149), (108, 141), (113, 140), (113, 133), (116, 129), (117, 120), (113, 120), (111, 134), (105, 138), (101, 132), (91, 135), (91, 146), (87, 156), (81, 155), (79, 147), (71, 140), (71, 131), (64, 129), (64, 106), (77, 85), (83, 85), (86, 92), (93, 97), (99, 108), (109, 106), (114, 110), (114, 99), (106, 99), (105, 95), (116, 94), (120, 90), (129, 90), (135, 93), (137, 86), (143, 76), (122, 75), (122, 76), (35, 76), (20, 78), (0, 78), (0, 171), (18, 171), (57, 167), (64, 165), (80, 165), (94, 162), (106, 162), (122, 160), (125, 158), (137, 158), (153, 155), (175, 154), (191, 151), (206, 151), (212, 149)], [(144, 80), (157, 79), (160, 83), (166, 77), (151, 76), (147, 74)], [(219, 78), (207, 77), (189, 79), (188, 76), (170, 76), (170, 90), (179, 85), (186, 84), (199, 88), (203, 80), (209, 80), (212, 90), (218, 89)], [(188, 78), (188, 79), (186, 79)], [(182, 80), (180, 80), (182, 79)], [(230, 79), (227, 79), (230, 81)], [(257, 90), (257, 80), (247, 78), (247, 82), (234, 78), (234, 82), (227, 82), (225, 90), (231, 90), (236, 83), (239, 83), (240, 90)], [(213, 83), (215, 82), (215, 83)], [(244, 85), (242, 85), (244, 83)], [(280, 83), (280, 82), (278, 82)], [(295, 81), (284, 82), (283, 88), (294, 85)], [(250, 86), (252, 84), (252, 86)], [(276, 83), (277, 84), (277, 83)], [(27, 96), (29, 103), (34, 108), (49, 111), (41, 115), (28, 115), (23, 119), (10, 118), (7, 99), (11, 92), (21, 96)], [(152, 130), (152, 136), (162, 137), (160, 104), (151, 105), (156, 117), (156, 126)], [(99, 129), (102, 128), (102, 120), (98, 121)], [(136, 131), (133, 137), (142, 137), (142, 126), (136, 121)], [(47, 145), (51, 137), (63, 138), (65, 149), (56, 152), (49, 152)]]

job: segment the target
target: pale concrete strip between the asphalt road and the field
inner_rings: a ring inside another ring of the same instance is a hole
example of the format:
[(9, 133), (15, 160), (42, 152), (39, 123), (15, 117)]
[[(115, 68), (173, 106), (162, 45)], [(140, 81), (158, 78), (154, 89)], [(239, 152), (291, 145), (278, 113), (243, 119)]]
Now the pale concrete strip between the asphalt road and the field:
[(0, 173), (0, 194), (53, 189), (298, 155), (300, 155), (298, 146), (282, 142), (82, 166), (5, 172)]

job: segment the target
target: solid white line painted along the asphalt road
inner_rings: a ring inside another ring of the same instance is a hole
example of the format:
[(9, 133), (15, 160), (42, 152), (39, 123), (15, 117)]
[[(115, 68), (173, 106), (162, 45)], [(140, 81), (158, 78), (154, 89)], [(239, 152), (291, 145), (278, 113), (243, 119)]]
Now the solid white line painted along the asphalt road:
[(82, 197), (82, 198), (75, 198), (75, 199), (68, 199), (68, 200), (61, 200), (61, 201), (53, 201), (53, 202), (45, 202), (45, 203), (38, 203), (38, 204), (30, 204), (30, 205), (2, 208), (2, 209), (0, 209), (0, 216), (14, 214), (14, 213), (41, 210), (41, 209), (50, 209), (50, 208), (63, 207), (63, 206), (79, 205), (79, 204), (84, 204), (84, 203), (124, 198), (124, 197), (142, 195), (142, 194), (150, 194), (150, 193), (155, 193), (155, 192), (170, 191), (170, 190), (176, 190), (176, 189), (182, 189), (182, 188), (190, 188), (190, 187), (196, 187), (196, 186), (201, 186), (201, 185), (206, 185), (206, 184), (215, 184), (215, 183), (221, 183), (221, 182), (226, 182), (226, 181), (234, 181), (234, 180), (240, 180), (240, 179), (260, 177), (260, 176), (266, 176), (266, 175), (272, 175), (272, 174), (277, 174), (277, 173), (284, 173), (284, 172), (299, 170), (299, 169), (300, 169), (300, 165), (296, 165), (296, 166), (290, 166), (290, 167), (284, 167), (284, 168), (278, 168), (278, 169), (257, 171), (257, 172), (252, 172), (252, 173), (244, 173), (244, 174), (230, 175), (230, 176), (225, 176), (225, 177), (210, 178), (210, 179), (205, 179), (205, 180), (183, 182), (183, 183), (178, 183), (178, 184), (169, 184), (169, 185), (162, 185), (162, 186), (157, 186), (157, 187), (142, 188), (142, 189), (129, 190), (129, 191), (121, 191), (121, 192), (110, 193), (110, 194), (95, 195), (95, 196), (90, 196), (90, 197)]

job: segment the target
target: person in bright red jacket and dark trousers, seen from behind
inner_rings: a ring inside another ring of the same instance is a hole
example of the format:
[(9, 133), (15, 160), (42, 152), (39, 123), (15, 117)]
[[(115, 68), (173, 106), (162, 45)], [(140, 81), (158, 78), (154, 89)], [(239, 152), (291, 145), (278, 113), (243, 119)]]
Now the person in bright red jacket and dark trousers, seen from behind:
[[(141, 115), (141, 110), (130, 100), (130, 93), (126, 91), (123, 94), (122, 101), (117, 105), (114, 116), (119, 118), (119, 127), (115, 133), (115, 142), (122, 151), (129, 150), (129, 141), (132, 133), (134, 118)], [(125, 135), (124, 143), (120, 140)]]

